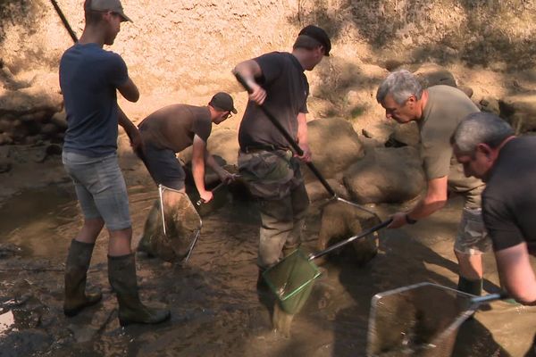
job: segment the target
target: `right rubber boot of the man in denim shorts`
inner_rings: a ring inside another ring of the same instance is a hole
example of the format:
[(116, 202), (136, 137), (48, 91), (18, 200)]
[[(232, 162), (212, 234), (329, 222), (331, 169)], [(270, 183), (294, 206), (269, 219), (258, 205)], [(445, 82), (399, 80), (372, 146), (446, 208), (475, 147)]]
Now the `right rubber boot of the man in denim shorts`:
[(134, 253), (108, 256), (108, 279), (117, 295), (121, 326), (156, 324), (170, 318), (169, 310), (149, 308), (139, 301)]

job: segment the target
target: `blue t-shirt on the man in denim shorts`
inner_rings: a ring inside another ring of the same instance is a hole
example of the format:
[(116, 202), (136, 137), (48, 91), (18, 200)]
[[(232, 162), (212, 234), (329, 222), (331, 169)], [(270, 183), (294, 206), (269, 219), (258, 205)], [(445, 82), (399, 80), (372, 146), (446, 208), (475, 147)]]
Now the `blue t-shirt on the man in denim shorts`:
[(67, 131), (63, 150), (91, 157), (117, 149), (116, 89), (129, 79), (119, 54), (97, 44), (76, 44), (60, 62)]

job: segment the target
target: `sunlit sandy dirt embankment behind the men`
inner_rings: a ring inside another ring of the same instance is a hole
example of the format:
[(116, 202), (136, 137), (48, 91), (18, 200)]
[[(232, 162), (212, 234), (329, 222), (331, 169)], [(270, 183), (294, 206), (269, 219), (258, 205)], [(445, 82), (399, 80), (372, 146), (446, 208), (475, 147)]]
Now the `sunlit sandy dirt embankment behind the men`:
[[(79, 36), (81, 3), (58, 1)], [(458, 85), (473, 89), (476, 103), (529, 93), (536, 84), (536, 5), (530, 1), (122, 3), (134, 22), (121, 25), (111, 49), (123, 56), (141, 90), (137, 104), (121, 101), (135, 122), (166, 104), (206, 104), (219, 90), (235, 96), (242, 111), (246, 95), (232, 78), (232, 67), (268, 51), (289, 50), (307, 23), (324, 27), (333, 39), (330, 59), (307, 73), (309, 118), (345, 118), (358, 133), (364, 129), (380, 141), (393, 124), (381, 120), (374, 92), (388, 70), (399, 65), (415, 70), (422, 62), (437, 62), (455, 74)], [(57, 65), (71, 37), (45, 0), (1, 1), (0, 19), (0, 177), (6, 192), (13, 193), (29, 183), (64, 179), (62, 170), (55, 170), (57, 147), (50, 144), (62, 141)], [(29, 102), (35, 106), (24, 106)], [(221, 127), (234, 129), (239, 118)], [(128, 145), (121, 138), (124, 149)], [(53, 162), (54, 177), (31, 175), (45, 171), (41, 162)], [(21, 165), (29, 168), (17, 169)]]

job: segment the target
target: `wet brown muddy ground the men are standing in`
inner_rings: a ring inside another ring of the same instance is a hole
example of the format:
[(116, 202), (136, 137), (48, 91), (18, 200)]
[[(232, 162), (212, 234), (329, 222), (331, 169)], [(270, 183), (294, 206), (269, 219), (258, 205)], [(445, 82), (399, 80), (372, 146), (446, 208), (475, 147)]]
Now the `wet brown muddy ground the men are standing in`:
[[(118, 324), (107, 283), (105, 233), (88, 274), (89, 285), (103, 290), (103, 303), (75, 318), (63, 317), (63, 262), (81, 220), (71, 187), (13, 197), (0, 208), (0, 243), (22, 250), (0, 259), (0, 313), (11, 312), (15, 320), (14, 326), (0, 328), (0, 355), (364, 356), (374, 294), (422, 281), (455, 286), (451, 237), (459, 201), (415, 226), (384, 231), (380, 253), (365, 267), (356, 267), (351, 254), (332, 256), (292, 320), (290, 336), (283, 336), (272, 329), (272, 297), (255, 290), (255, 207), (222, 195), (227, 199), (222, 207), (204, 212), (201, 237), (186, 266), (138, 255), (142, 299), (167, 304), (172, 320), (129, 328)], [(130, 187), (133, 246), (155, 199), (153, 187)], [(377, 209), (385, 217), (397, 208)], [(319, 221), (313, 209), (306, 247), (314, 246)], [(486, 278), (485, 287), (497, 289), (491, 256)], [(492, 303), (463, 325), (453, 355), (523, 356), (535, 330), (534, 309)]]

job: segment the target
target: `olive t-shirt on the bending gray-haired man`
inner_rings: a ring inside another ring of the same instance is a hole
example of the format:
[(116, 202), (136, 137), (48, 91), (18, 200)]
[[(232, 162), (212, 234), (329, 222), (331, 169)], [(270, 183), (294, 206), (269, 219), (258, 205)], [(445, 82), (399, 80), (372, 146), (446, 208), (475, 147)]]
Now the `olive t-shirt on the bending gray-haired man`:
[(465, 195), (465, 206), (480, 207), (483, 182), (466, 178), (464, 168), (456, 161), (450, 137), (458, 123), (478, 107), (464, 92), (449, 86), (428, 89), (428, 102), (423, 118), (417, 120), (421, 134), (421, 155), (424, 174), (428, 180), (448, 176), (448, 188)]

